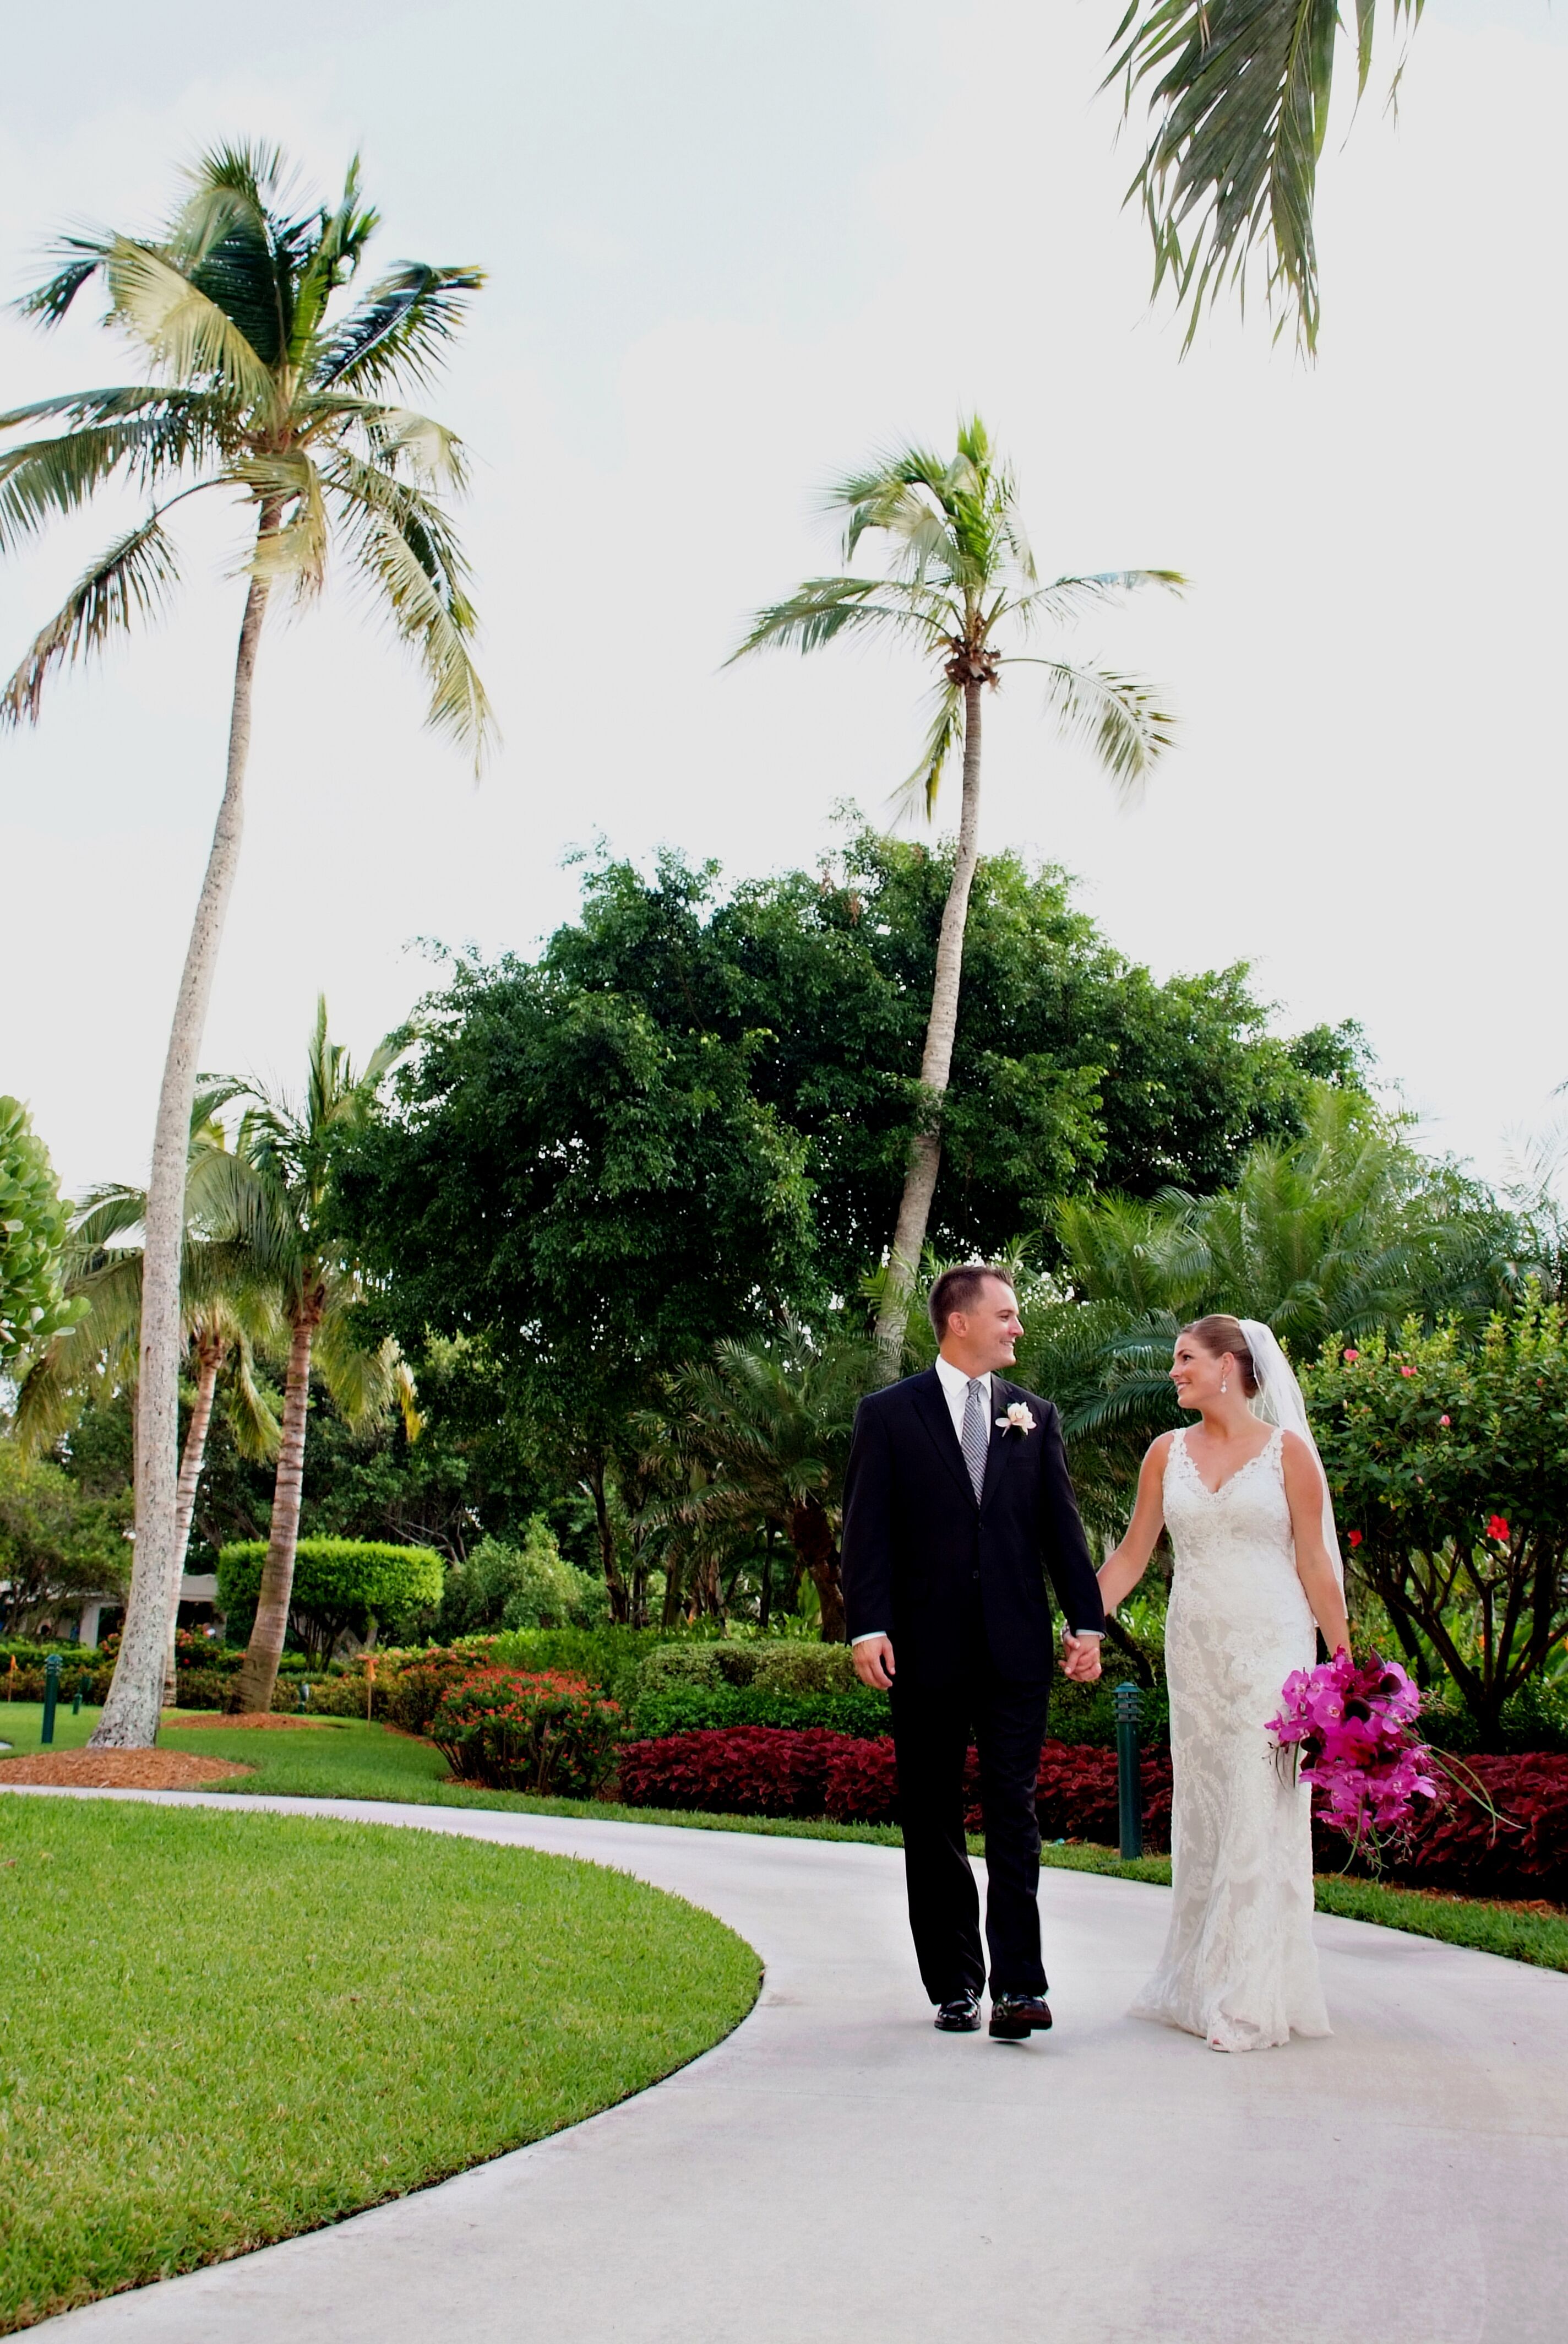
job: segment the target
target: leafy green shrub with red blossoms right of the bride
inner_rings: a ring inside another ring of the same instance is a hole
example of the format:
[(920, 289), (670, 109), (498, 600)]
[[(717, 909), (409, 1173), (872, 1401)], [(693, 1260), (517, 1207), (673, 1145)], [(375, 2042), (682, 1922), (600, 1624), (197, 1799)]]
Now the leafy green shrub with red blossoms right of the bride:
[[(1350, 1568), (1498, 1749), (1568, 1634), (1568, 1313), (1329, 1343), (1303, 1374)], [(1427, 1674), (1423, 1669), (1423, 1674)]]

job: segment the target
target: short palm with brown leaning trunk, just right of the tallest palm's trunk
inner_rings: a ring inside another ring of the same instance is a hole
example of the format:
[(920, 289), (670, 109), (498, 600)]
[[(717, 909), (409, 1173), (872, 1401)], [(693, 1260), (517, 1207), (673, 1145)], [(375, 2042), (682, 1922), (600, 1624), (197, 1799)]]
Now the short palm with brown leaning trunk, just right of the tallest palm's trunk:
[(284, 1437), (272, 1488), (267, 1561), (251, 1643), (234, 1688), (234, 1706), (244, 1711), (272, 1704), (288, 1634), (312, 1369), (349, 1425), (368, 1425), (396, 1404), (403, 1409), (408, 1437), (415, 1439), (420, 1432), (415, 1385), (398, 1345), (391, 1336), (370, 1348), (359, 1341), (354, 1327), (356, 1306), (363, 1301), (359, 1268), (330, 1235), (333, 1142), (366, 1120), (382, 1081), (415, 1038), (413, 1027), (389, 1034), (370, 1052), (363, 1074), (356, 1074), (342, 1043), (328, 1036), (326, 999), (319, 999), (302, 1104), (255, 1092), (258, 1104), (239, 1125), (234, 1219), (258, 1263), (277, 1280), (288, 1327)]

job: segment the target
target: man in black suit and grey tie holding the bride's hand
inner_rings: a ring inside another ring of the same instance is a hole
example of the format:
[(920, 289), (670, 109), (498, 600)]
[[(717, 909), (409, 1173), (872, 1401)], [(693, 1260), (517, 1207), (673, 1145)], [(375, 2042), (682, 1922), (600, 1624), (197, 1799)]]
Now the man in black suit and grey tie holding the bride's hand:
[(980, 1899), (963, 1842), (963, 1758), (980, 1751), (991, 2035), (1050, 2025), (1041, 1969), (1041, 1831), (1052, 1629), (1099, 1676), (1104, 1610), (1057, 1411), (998, 1369), (1024, 1331), (1003, 1270), (930, 1289), (938, 1364), (860, 1402), (844, 1481), (844, 1603), (855, 1671), (891, 1695), (909, 1927), (945, 2035), (980, 2028)]

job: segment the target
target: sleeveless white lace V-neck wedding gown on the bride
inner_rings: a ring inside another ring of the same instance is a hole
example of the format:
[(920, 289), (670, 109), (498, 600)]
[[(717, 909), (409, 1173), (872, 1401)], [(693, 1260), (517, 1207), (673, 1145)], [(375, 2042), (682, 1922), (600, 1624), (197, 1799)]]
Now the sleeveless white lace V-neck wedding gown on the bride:
[(1263, 2051), (1327, 2035), (1313, 1946), (1310, 1791), (1275, 1765), (1263, 1732), (1291, 1669), (1315, 1657), (1280, 1432), (1209, 1491), (1172, 1435), (1165, 1526), (1174, 1547), (1165, 1669), (1174, 1805), (1172, 1913), (1160, 1967), (1132, 2004), (1207, 2037)]

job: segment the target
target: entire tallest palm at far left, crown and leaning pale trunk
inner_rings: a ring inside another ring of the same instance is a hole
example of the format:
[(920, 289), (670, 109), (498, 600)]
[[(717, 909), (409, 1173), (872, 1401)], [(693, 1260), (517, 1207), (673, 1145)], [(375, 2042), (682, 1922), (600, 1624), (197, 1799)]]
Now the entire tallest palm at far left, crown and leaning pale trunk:
[(148, 380), (63, 391), (0, 415), (23, 436), (0, 455), (0, 548), (75, 513), (98, 490), (129, 485), (148, 509), (77, 579), (0, 694), (0, 722), (35, 722), (49, 675), (89, 659), (152, 616), (178, 581), (169, 511), (216, 490), (253, 513), (248, 579), (223, 799), (197, 900), (157, 1104), (148, 1184), (136, 1566), (115, 1683), (94, 1744), (143, 1746), (157, 1732), (169, 1608), (176, 1601), (178, 1360), (185, 1142), (202, 1029), (227, 912), (251, 748), (251, 694), (274, 586), (307, 602), (328, 553), (370, 588), (429, 673), (429, 720), (473, 743), (488, 734), (469, 656), (473, 607), (443, 492), (462, 488), (459, 441), (403, 403), (429, 377), (473, 267), (398, 263), (347, 309), (377, 216), (349, 166), (338, 209), (293, 209), (277, 148), (216, 148), (190, 173), (159, 237), (80, 234), (21, 302), (56, 326), (101, 281), (103, 323), (131, 340)]

